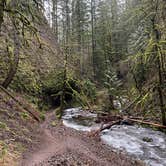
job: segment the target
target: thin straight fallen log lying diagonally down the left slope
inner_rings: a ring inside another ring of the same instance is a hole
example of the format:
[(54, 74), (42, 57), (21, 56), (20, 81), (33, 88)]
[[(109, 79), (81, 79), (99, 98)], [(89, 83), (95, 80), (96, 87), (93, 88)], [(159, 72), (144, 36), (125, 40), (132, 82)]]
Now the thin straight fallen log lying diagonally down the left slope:
[(40, 114), (35, 111), (33, 108), (29, 109), (26, 103), (22, 103), (21, 101), (19, 101), (18, 99), (16, 99), (7, 89), (5, 89), (4, 87), (2, 87), (0, 85), (0, 89), (6, 93), (10, 98), (13, 99), (13, 101), (15, 101), (17, 104), (19, 104), (20, 107), (22, 107), (26, 112), (28, 112), (36, 121), (40, 122)]

